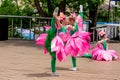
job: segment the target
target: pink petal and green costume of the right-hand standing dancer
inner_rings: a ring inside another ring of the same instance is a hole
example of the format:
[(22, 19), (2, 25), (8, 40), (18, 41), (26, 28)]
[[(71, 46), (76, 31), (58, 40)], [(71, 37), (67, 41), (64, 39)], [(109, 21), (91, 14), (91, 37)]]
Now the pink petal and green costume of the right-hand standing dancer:
[(70, 30), (70, 38), (66, 42), (65, 52), (72, 56), (73, 68), (76, 68), (76, 56), (78, 54), (82, 56), (90, 48), (90, 33), (82, 31), (83, 24), (80, 15), (76, 17), (75, 14), (72, 14), (71, 16), (76, 21), (72, 25), (74, 30)]

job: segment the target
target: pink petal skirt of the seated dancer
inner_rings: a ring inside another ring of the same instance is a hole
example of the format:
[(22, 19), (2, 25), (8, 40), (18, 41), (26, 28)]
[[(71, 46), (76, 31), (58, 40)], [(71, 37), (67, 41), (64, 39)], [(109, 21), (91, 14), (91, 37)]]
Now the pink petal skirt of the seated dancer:
[(113, 59), (118, 59), (117, 52), (114, 50), (104, 50), (102, 44), (97, 44), (92, 50), (92, 57), (94, 60), (98, 61), (112, 61)]

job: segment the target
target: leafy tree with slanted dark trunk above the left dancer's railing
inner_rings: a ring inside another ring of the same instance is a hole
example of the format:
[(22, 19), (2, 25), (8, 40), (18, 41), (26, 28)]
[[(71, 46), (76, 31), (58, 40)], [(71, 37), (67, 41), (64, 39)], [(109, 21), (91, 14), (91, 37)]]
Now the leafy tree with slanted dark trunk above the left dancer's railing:
[(60, 6), (60, 0), (34, 0), (35, 7), (40, 16), (52, 16), (55, 7)]

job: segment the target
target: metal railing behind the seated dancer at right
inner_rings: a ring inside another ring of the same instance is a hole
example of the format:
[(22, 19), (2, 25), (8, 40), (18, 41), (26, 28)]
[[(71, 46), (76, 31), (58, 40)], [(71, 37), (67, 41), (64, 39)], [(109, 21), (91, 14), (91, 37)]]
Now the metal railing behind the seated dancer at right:
[[(104, 26), (99, 26), (99, 27), (92, 27), (91, 29), (93, 29), (93, 32), (92, 32), (93, 42), (98, 41), (100, 38), (98, 32), (96, 32), (98, 29), (105, 31), (107, 37), (111, 41), (115, 41), (115, 40), (119, 41), (120, 40), (120, 25), (112, 25), (112, 26), (111, 25), (104, 25)], [(116, 36), (118, 36), (118, 39), (115, 39)]]

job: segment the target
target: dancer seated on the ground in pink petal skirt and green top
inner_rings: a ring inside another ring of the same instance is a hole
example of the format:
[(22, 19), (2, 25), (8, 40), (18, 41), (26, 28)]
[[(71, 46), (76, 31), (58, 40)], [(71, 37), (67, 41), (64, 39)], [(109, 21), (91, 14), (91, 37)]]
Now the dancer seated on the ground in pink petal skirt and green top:
[(112, 61), (118, 59), (117, 52), (114, 50), (108, 50), (106, 33), (99, 31), (99, 35), (103, 36), (102, 40), (99, 41), (96, 47), (92, 50), (92, 58), (98, 61)]

